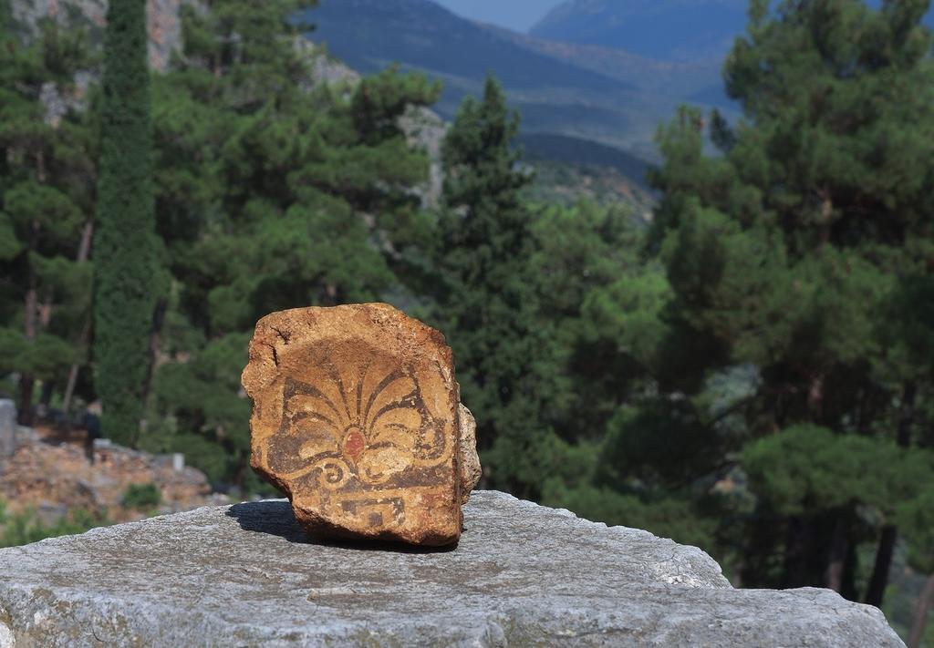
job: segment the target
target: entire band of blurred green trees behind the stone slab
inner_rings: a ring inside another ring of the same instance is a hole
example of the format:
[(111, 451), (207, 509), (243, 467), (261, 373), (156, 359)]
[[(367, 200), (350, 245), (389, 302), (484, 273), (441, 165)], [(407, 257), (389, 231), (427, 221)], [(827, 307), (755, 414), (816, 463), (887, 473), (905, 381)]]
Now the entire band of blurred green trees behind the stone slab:
[[(255, 321), (389, 301), (454, 348), (484, 486), (700, 545), (734, 585), (883, 606), (918, 645), (934, 581), (895, 609), (889, 576), (934, 572), (928, 3), (752, 2), (724, 69), (743, 117), (685, 106), (659, 127), (648, 223), (532, 199), (492, 77), (427, 199), (403, 122), (439, 84), (395, 67), (321, 81), (306, 6), (184, 9), (146, 155), (107, 139), (117, 81), (99, 101), (76, 85), (97, 66), (85, 31), (0, 34), (0, 370), (24, 420), (101, 398), (124, 412), (108, 436), (257, 492), (239, 386)], [(145, 187), (112, 206), (127, 165), (153, 191), (152, 236)], [(135, 282), (133, 335), (91, 329), (92, 267), (99, 314)]]

